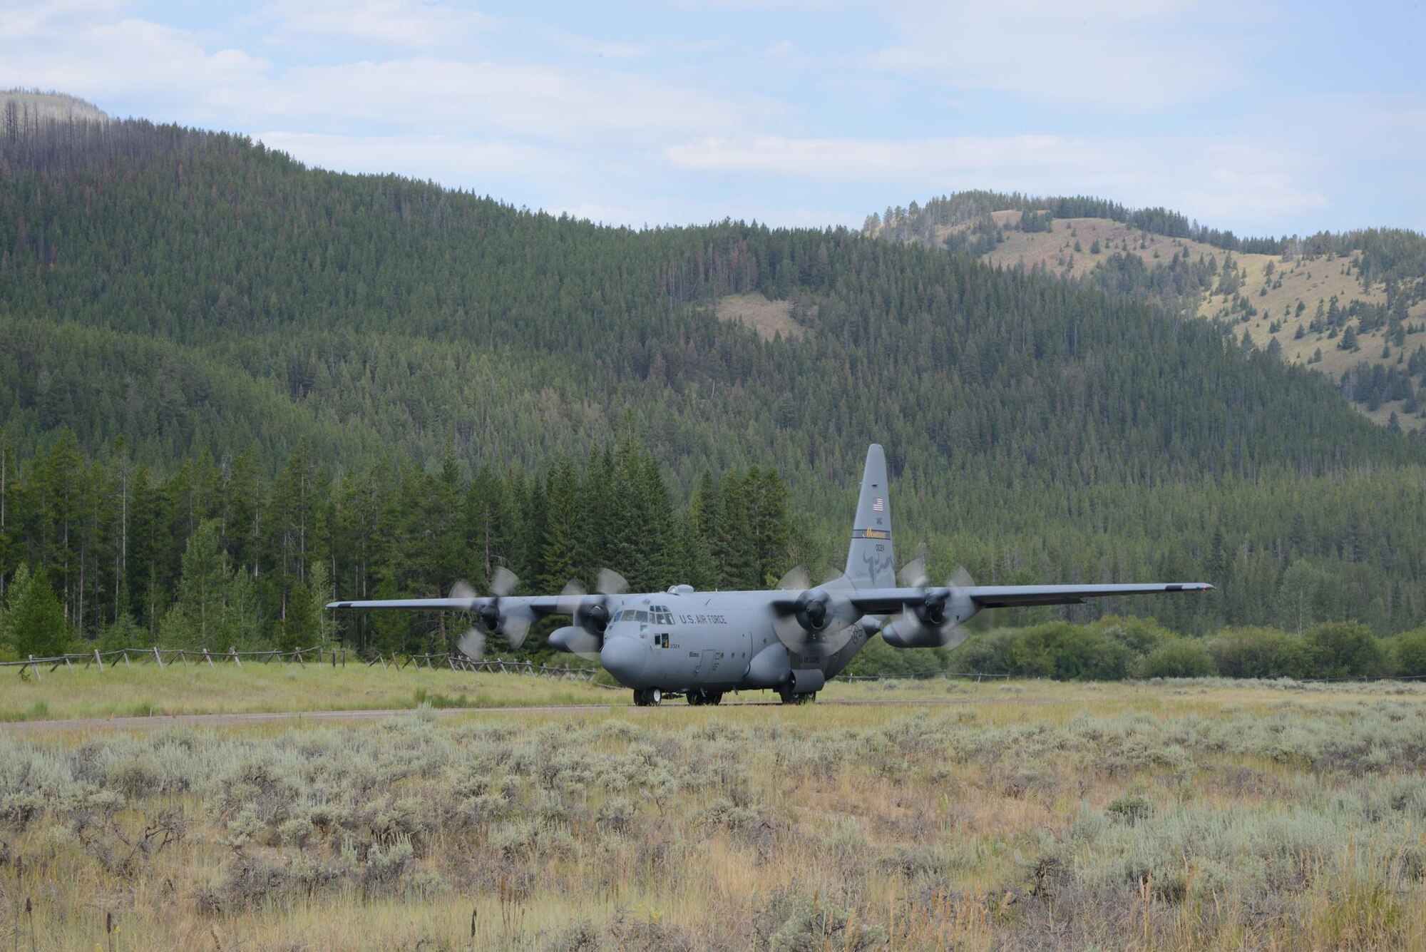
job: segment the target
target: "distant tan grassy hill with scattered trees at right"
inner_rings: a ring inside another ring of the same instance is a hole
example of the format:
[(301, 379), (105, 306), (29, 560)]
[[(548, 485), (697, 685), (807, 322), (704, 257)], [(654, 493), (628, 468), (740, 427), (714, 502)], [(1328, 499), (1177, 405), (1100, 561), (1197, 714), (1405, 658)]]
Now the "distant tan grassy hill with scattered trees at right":
[(1322, 372), (1370, 419), (1426, 425), (1426, 237), (1366, 228), (1239, 238), (1166, 208), (958, 192), (863, 232), (1211, 318), (1243, 348)]

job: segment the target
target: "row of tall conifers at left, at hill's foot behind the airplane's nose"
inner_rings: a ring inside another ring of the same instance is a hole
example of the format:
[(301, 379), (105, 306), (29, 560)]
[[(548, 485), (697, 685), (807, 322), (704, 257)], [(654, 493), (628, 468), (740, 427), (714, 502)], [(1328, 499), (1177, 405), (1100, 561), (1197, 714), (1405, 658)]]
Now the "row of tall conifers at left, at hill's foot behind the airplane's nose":
[[(787, 485), (759, 466), (704, 473), (686, 502), (635, 436), (545, 470), (463, 475), (381, 460), (324, 466), (298, 446), (271, 479), (254, 453), (200, 455), (168, 476), (124, 446), (104, 462), (64, 430), (17, 465), (0, 432), (0, 651), (70, 647), (448, 650), (431, 614), (332, 619), (332, 599), (586, 590), (599, 569), (633, 590), (766, 587), (793, 564)], [(539, 648), (539, 640), (533, 640)]]

